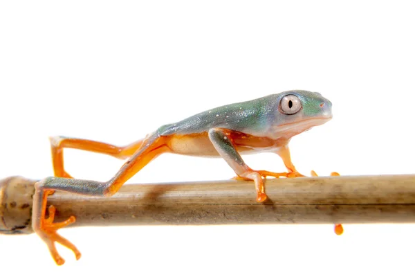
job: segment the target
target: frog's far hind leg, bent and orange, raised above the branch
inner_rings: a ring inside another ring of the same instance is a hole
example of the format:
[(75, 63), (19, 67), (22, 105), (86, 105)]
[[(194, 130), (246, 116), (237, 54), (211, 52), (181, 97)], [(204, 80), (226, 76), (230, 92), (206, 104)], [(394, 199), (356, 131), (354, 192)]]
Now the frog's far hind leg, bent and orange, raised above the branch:
[(72, 178), (64, 170), (64, 148), (86, 150), (90, 152), (107, 154), (118, 159), (131, 157), (142, 145), (142, 141), (136, 141), (130, 145), (119, 147), (99, 141), (87, 139), (66, 138), (64, 136), (50, 137), (50, 150), (52, 152), (53, 170), (55, 177)]

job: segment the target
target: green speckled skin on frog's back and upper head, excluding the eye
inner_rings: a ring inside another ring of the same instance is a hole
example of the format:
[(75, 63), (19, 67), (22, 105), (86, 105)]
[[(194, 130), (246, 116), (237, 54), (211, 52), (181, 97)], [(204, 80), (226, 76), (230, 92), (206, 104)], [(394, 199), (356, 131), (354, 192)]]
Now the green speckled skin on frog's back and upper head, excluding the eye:
[[(288, 94), (295, 95), (301, 100), (302, 111), (293, 115), (282, 114), (279, 111), (280, 100)], [(324, 103), (324, 107), (320, 107), (321, 103)], [(160, 136), (194, 134), (208, 132), (212, 128), (225, 128), (275, 139), (273, 132), (276, 126), (321, 116), (331, 116), (331, 102), (322, 97), (320, 93), (300, 90), (284, 91), (203, 111), (177, 123), (164, 125), (157, 130), (157, 134)]]

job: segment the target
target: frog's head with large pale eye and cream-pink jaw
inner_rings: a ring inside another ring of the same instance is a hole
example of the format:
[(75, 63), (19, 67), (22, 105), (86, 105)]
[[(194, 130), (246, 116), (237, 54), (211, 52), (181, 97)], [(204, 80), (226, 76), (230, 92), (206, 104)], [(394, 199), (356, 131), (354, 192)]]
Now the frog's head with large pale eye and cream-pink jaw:
[(274, 130), (284, 136), (294, 136), (311, 127), (331, 120), (331, 102), (320, 93), (284, 91), (277, 97)]

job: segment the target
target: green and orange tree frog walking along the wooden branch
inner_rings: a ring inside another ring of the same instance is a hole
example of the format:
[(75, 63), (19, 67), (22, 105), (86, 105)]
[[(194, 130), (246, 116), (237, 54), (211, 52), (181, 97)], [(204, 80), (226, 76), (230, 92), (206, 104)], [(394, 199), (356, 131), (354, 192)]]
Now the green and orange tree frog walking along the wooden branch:
[[(55, 177), (35, 184), (33, 230), (46, 242), (58, 265), (64, 264), (64, 259), (57, 253), (55, 242), (71, 249), (79, 259), (80, 251), (57, 234), (58, 229), (75, 222), (75, 217), (53, 223), (55, 208), (49, 206), (49, 217), (45, 218), (48, 195), (55, 190), (63, 190), (81, 195), (111, 197), (147, 163), (166, 152), (225, 159), (239, 178), (254, 181), (257, 202), (264, 202), (267, 199), (264, 177), (304, 177), (291, 162), (288, 148), (290, 139), (311, 127), (326, 123), (331, 117), (331, 102), (320, 93), (293, 90), (203, 111), (177, 123), (164, 125), (145, 139), (124, 147), (84, 139), (53, 137), (50, 144)], [(64, 148), (98, 152), (128, 160), (109, 181), (72, 179), (64, 170)], [(259, 152), (278, 154), (288, 172), (253, 170), (241, 157), (241, 154)]]

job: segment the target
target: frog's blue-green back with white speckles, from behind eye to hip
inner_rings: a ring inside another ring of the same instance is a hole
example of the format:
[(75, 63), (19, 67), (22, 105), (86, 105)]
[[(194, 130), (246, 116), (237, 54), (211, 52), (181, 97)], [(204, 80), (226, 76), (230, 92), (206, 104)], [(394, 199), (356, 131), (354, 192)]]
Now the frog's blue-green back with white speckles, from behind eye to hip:
[(276, 95), (257, 98), (203, 111), (184, 120), (158, 128), (160, 136), (172, 134), (199, 134), (214, 127), (254, 134), (264, 131), (268, 118), (273, 114)]

